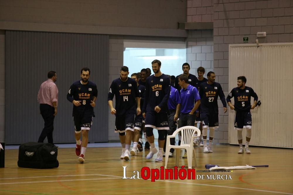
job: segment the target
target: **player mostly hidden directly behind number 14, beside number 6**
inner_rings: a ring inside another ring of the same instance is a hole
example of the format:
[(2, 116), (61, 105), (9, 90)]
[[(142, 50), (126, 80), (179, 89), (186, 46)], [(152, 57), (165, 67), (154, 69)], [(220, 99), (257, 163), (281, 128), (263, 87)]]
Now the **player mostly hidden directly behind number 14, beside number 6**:
[[(144, 85), (140, 85), (138, 84), (138, 79), (139, 79), (139, 74), (137, 73), (133, 73), (131, 75), (131, 78), (134, 79), (137, 83), (137, 88), (139, 91), (139, 96), (140, 96), (140, 104), (143, 105), (144, 103), (144, 93), (145, 93), (145, 86)], [(135, 120), (134, 120), (134, 137), (133, 137), (133, 148), (130, 150), (130, 154), (132, 156), (136, 156), (137, 152), (142, 151), (142, 145), (141, 142), (139, 144), (139, 137), (140, 137), (140, 132), (142, 132), (142, 113), (140, 113), (139, 115), (135, 116)], [(138, 148), (139, 146), (139, 148)]]

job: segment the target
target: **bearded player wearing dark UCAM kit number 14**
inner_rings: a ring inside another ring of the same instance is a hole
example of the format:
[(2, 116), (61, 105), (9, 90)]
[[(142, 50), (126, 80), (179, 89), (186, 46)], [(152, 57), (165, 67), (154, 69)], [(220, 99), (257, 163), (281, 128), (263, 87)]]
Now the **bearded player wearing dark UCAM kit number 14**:
[[(135, 114), (139, 115), (140, 98), (137, 83), (134, 79), (128, 77), (127, 66), (120, 69), (120, 78), (115, 79), (108, 93), (108, 105), (111, 114), (115, 114), (115, 133), (119, 133), (120, 143), (122, 145), (122, 154), (120, 159), (130, 160), (130, 144), (134, 134), (133, 124)], [(113, 98), (115, 95), (115, 108), (113, 107)], [(126, 136), (125, 136), (126, 131)]]

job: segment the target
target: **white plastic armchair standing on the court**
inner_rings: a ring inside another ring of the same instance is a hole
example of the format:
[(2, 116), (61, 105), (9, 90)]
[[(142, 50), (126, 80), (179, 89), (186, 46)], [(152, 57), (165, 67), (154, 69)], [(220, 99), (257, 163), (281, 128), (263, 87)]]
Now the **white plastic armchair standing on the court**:
[[(170, 138), (175, 138), (176, 134), (181, 131), (181, 143), (180, 146), (170, 145)], [(193, 136), (197, 132), (197, 136)], [(165, 156), (165, 168), (167, 168), (169, 152), (171, 148), (174, 148), (176, 151), (176, 166), (178, 166), (179, 158), (180, 158), (180, 149), (186, 149), (187, 152), (187, 162), (188, 168), (192, 168), (192, 157), (194, 153), (194, 164), (197, 167), (196, 157), (195, 157), (195, 150), (193, 148), (193, 139), (200, 136), (200, 130), (195, 126), (183, 126), (174, 131), (173, 135), (167, 136), (167, 143), (166, 143), (166, 156)]]

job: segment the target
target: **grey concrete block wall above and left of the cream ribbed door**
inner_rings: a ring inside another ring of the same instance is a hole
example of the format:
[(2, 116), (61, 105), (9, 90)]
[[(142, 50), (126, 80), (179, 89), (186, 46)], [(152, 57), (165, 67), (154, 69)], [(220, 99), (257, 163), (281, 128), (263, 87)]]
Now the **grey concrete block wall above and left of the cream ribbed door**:
[[(202, 18), (204, 14), (207, 14), (207, 10), (208, 7), (203, 6), (203, 0), (188, 0), (187, 21), (204, 22), (205, 20)], [(267, 37), (258, 39), (260, 43), (292, 42), (293, 1), (213, 0), (212, 10), (213, 68), (216, 73), (216, 81), (222, 85), (225, 96), (227, 96), (229, 91), (229, 44), (243, 43), (243, 37), (249, 37), (249, 43), (255, 43), (257, 32), (267, 33)], [(214, 142), (228, 143), (228, 115), (223, 113), (221, 101), (218, 100), (218, 104), (220, 106), (219, 129), (215, 132), (214, 138), (217, 141)]]

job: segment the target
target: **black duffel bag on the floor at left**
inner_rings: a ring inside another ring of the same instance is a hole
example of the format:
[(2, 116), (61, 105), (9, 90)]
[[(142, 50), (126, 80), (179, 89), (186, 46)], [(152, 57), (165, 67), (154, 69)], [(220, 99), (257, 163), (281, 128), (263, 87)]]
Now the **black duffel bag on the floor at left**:
[(28, 142), (19, 146), (18, 167), (48, 169), (59, 166), (58, 148), (51, 143)]

